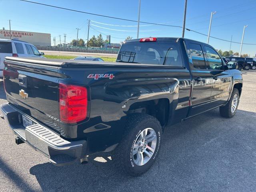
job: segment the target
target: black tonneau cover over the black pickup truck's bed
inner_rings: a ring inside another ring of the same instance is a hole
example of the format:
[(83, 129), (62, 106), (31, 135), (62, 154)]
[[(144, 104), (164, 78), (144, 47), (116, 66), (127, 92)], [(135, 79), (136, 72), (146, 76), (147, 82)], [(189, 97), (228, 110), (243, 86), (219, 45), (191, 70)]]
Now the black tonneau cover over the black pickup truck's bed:
[[(47, 59), (47, 58), (27, 58), (27, 57), (6, 57), (6, 62), (11, 62), (12, 64), (35, 64), (44, 66), (54, 66), (54, 67), (84, 67), (84, 66), (132, 66), (132, 67), (157, 67), (159, 65), (154, 64), (133, 64), (133, 63), (121, 63), (121, 62), (98, 62), (98, 61), (83, 61), (83, 60), (67, 60), (67, 59)], [(167, 66), (161, 65), (164, 68), (184, 68), (179, 66)]]

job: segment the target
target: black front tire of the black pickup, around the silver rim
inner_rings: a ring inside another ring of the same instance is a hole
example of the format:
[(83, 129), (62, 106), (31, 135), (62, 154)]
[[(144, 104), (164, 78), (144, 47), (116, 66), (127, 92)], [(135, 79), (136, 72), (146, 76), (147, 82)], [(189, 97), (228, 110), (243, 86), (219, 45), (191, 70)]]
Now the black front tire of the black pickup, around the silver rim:
[[(232, 100), (233, 100), (235, 95), (237, 95), (238, 101), (237, 101), (236, 109), (234, 110), (234, 112), (232, 112), (232, 110), (231, 110), (231, 108), (232, 108)], [(238, 105), (239, 105), (239, 99), (240, 98), (239, 98), (239, 91), (238, 91), (238, 89), (237, 88), (233, 88), (233, 92), (231, 94), (231, 97), (230, 97), (230, 100), (228, 101), (228, 103), (225, 106), (220, 107), (220, 115), (222, 117), (226, 117), (226, 118), (234, 117), (234, 115), (236, 114)]]

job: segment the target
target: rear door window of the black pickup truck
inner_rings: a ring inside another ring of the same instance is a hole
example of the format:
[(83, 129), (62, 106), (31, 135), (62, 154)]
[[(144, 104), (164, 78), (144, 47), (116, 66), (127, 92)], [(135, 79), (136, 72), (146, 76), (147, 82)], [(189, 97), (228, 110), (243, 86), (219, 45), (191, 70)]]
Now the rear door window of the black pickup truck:
[(206, 69), (204, 54), (200, 44), (190, 43), (190, 56), (192, 58), (193, 66), (197, 69)]

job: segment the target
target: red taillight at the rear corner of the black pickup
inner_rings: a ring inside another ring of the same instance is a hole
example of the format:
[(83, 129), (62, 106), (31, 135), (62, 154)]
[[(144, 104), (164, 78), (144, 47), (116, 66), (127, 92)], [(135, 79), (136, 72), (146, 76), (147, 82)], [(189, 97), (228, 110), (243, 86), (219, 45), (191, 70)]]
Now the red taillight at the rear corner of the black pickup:
[(71, 124), (86, 118), (88, 100), (85, 87), (60, 84), (59, 99), (62, 122)]

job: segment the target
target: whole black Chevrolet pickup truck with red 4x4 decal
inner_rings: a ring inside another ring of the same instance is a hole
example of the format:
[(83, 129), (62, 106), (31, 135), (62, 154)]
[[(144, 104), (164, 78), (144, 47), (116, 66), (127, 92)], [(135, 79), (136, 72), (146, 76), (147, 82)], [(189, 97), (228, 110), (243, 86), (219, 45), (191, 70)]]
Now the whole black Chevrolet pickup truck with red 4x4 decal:
[[(156, 160), (168, 125), (214, 108), (232, 118), (242, 74), (184, 38), (126, 41), (116, 62), (6, 57), (0, 106), (16, 143), (56, 166), (113, 151), (132, 176)], [(169, 128), (169, 126), (168, 126)]]

